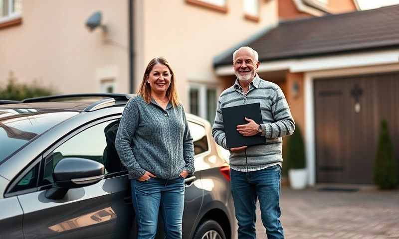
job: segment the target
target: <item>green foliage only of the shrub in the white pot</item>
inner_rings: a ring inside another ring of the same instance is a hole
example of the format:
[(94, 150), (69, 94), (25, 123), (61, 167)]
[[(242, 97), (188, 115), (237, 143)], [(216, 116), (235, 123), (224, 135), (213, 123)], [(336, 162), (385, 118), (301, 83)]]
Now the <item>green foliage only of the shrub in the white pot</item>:
[(288, 169), (306, 167), (305, 144), (298, 125), (295, 126), (294, 133), (288, 136), (285, 157)]

